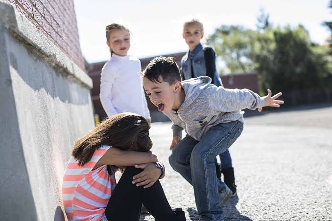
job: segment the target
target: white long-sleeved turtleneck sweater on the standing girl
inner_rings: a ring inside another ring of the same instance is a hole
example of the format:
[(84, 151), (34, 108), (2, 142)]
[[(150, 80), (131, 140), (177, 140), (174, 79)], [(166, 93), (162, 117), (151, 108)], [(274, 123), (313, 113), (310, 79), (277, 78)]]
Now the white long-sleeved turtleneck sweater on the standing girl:
[(151, 119), (139, 76), (141, 70), (140, 60), (130, 55), (113, 54), (103, 66), (99, 96), (107, 116), (133, 112)]

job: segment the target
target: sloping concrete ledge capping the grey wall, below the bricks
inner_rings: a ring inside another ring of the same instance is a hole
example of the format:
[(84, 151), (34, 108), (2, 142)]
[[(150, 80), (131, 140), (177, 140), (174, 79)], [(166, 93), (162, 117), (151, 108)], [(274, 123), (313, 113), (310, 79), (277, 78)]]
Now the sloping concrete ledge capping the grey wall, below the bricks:
[(56, 45), (24, 16), (14, 5), (0, 0), (0, 25), (18, 41), (24, 43), (28, 50), (47, 61), (55, 70), (72, 76), (87, 88), (92, 88), (92, 79), (71, 61)]

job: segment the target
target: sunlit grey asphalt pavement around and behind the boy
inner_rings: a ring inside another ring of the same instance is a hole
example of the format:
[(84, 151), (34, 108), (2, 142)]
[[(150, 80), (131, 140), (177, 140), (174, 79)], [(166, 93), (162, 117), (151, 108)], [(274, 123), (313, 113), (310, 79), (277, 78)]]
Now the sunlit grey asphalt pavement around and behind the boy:
[[(193, 188), (168, 163), (170, 127), (152, 124), (152, 151), (166, 166), (161, 183), (170, 205), (195, 221)], [(230, 152), (238, 195), (223, 207), (225, 221), (332, 220), (331, 103), (246, 117)], [(148, 213), (141, 216), (153, 220)]]

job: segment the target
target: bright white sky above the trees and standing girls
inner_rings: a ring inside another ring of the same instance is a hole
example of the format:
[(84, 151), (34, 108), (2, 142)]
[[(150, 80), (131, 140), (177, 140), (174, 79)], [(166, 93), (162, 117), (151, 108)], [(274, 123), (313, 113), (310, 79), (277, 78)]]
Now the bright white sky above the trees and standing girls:
[(313, 42), (324, 44), (332, 21), (329, 0), (74, 0), (80, 45), (90, 63), (110, 57), (105, 26), (118, 22), (132, 32), (129, 53), (138, 58), (188, 50), (182, 38), (183, 22), (197, 18), (205, 35), (222, 24), (256, 28), (260, 8), (274, 26), (303, 24)]

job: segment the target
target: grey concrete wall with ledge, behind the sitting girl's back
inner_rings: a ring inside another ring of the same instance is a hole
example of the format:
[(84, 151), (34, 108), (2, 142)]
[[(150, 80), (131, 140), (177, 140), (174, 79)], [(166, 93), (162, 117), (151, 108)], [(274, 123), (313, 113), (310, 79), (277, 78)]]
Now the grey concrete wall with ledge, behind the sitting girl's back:
[(0, 45), (0, 220), (65, 220), (62, 177), (94, 128), (92, 81), (2, 0)]

